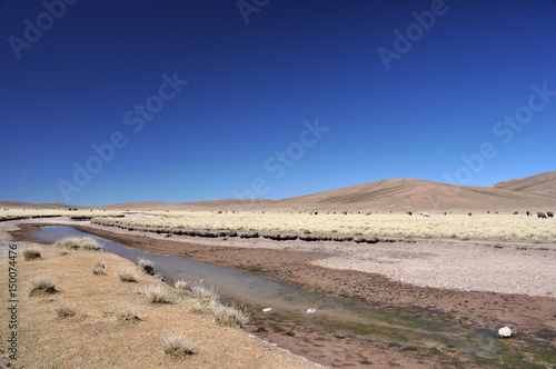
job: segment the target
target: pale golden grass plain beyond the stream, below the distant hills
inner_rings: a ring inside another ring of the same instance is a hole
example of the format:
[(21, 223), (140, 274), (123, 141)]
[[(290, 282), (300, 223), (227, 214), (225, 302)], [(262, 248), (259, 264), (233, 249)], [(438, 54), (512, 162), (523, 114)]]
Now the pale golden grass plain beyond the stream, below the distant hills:
[(135, 228), (214, 229), (287, 233), (325, 233), (400, 238), (523, 241), (556, 243), (556, 218), (509, 213), (434, 213), (426, 218), (406, 213), (160, 212), (158, 217), (99, 219), (100, 223)]

